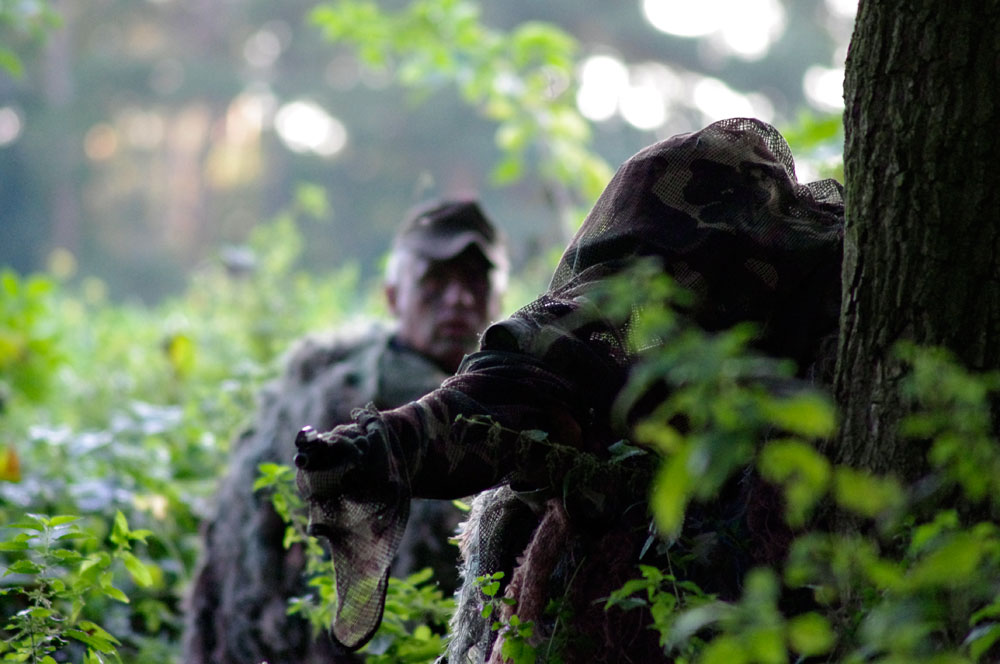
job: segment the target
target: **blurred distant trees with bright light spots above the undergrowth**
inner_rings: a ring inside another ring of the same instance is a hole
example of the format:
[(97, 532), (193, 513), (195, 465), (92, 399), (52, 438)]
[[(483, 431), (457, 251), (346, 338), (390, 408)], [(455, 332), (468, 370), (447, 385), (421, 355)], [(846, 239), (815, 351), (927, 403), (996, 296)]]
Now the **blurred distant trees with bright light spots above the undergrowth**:
[[(42, 7), (59, 17), (45, 39)], [(332, 43), (324, 14), (393, 43)], [(69, 252), (81, 280), (154, 303), (309, 182), (330, 202), (301, 229), (310, 269), (357, 262), (368, 281), (402, 210), (477, 189), (523, 273), (599, 191), (540, 164), (837, 112), (852, 19), (851, 0), (0, 2), (21, 71), (0, 50), (0, 263), (28, 274)]]

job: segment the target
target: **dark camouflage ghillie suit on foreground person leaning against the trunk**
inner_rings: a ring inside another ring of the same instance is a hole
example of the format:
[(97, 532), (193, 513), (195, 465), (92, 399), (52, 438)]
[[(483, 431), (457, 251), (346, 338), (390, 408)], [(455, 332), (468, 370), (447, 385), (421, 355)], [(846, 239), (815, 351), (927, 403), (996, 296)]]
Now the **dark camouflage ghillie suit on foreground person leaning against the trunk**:
[[(799, 184), (784, 139), (757, 120), (718, 122), (625, 162), (548, 292), (490, 327), (440, 389), (299, 434), (299, 489), (337, 570), (333, 637), (354, 648), (377, 627), (411, 497), (493, 488), (466, 527), (470, 559), (448, 661), (501, 660), (475, 588), (477, 576), (497, 571), (516, 601), (509, 611), (535, 621), (536, 636), (552, 636), (557, 623), (570, 635), (563, 661), (663, 661), (648, 614), (596, 601), (636, 574), (655, 459), (613, 458), (631, 424), (613, 404), (638, 358), (626, 343), (629, 320), (609, 319), (595, 294), (638, 259), (656, 260), (694, 293), (688, 320), (709, 332), (753, 321), (757, 351), (813, 377), (836, 334), (842, 239), (840, 186)], [(751, 519), (756, 499), (739, 483), (732, 491), (704, 521)], [(707, 590), (735, 592), (752, 552), (713, 555), (718, 578), (706, 580), (718, 588)]]

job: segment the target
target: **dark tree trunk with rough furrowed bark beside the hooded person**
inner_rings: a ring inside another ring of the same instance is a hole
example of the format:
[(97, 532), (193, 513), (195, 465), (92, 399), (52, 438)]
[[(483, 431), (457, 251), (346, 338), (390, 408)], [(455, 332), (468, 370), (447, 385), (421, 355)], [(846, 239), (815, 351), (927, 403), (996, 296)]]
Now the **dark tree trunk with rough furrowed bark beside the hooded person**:
[(838, 461), (912, 477), (896, 342), (1000, 368), (1000, 2), (862, 0), (845, 81)]

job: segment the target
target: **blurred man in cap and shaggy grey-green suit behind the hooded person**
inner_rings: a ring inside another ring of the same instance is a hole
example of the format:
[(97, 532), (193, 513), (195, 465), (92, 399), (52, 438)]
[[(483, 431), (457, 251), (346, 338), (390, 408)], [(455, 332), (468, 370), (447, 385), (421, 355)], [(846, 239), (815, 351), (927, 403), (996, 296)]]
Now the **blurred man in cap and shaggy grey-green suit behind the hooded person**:
[[(438, 387), (499, 313), (507, 258), (500, 232), (470, 200), (415, 208), (390, 253), (385, 295), (394, 325), (314, 336), (291, 349), (283, 375), (261, 394), (253, 425), (235, 441), (204, 553), (188, 596), (185, 664), (317, 664), (357, 661), (326, 635), (312, 639), (288, 600), (306, 593), (301, 546), (286, 550), (285, 524), (254, 493), (258, 466), (289, 463), (303, 425), (330, 428), (357, 408), (387, 409)], [(448, 503), (415, 508), (394, 573), (435, 569), (457, 583), (447, 542), (460, 513)]]

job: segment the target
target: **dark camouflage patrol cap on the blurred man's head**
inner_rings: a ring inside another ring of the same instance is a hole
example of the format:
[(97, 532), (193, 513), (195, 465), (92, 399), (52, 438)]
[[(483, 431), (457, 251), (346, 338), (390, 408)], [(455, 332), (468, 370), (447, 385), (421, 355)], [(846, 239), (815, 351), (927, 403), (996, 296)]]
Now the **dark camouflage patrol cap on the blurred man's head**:
[(476, 247), (493, 267), (507, 265), (503, 237), (469, 199), (433, 201), (413, 208), (396, 233), (394, 245), (435, 261)]

